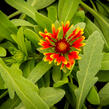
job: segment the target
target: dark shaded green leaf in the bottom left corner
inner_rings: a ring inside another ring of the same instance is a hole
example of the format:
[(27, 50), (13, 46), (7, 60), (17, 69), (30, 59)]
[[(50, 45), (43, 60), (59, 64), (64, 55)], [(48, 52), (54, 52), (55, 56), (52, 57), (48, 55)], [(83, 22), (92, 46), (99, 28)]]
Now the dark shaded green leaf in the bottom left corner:
[(15, 96), (14, 99), (7, 99), (2, 105), (0, 105), (0, 109), (14, 109), (20, 103), (20, 99)]

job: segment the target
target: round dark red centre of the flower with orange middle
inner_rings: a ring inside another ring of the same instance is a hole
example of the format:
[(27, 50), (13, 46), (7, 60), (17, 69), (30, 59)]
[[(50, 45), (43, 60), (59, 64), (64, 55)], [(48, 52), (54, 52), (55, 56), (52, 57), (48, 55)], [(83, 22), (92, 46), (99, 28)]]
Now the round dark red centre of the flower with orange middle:
[(56, 52), (66, 53), (69, 50), (70, 50), (70, 44), (65, 39), (61, 39), (55, 43)]

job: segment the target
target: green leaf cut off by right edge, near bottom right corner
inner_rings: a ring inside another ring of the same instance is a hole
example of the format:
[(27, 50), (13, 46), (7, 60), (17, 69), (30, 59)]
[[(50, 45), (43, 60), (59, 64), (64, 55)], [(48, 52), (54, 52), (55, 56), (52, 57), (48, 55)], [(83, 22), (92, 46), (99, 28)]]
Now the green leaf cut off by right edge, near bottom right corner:
[(107, 83), (100, 91), (100, 105), (106, 106), (109, 105), (109, 83)]

